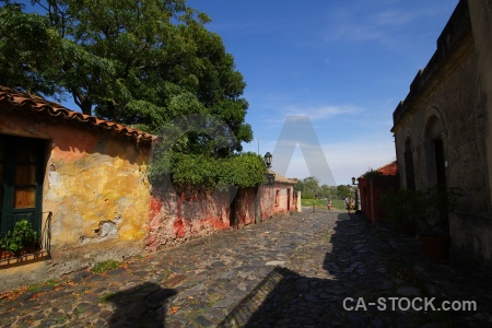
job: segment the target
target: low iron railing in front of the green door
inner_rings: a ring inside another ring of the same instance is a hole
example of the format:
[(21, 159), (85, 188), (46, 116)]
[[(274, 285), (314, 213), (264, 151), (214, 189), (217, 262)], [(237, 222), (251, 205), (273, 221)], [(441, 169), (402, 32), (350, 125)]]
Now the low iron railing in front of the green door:
[[(52, 212), (40, 213), (40, 227), (37, 230), (37, 243), (33, 249), (24, 249), (20, 254), (10, 254), (5, 249), (0, 248), (0, 265), (16, 263), (21, 261), (27, 261), (31, 259), (38, 259), (42, 257), (48, 257), (51, 245), (51, 218)], [(22, 220), (23, 218), (20, 216)], [(0, 220), (4, 220), (4, 216), (0, 216)], [(7, 233), (0, 232), (1, 241), (7, 239)], [(1, 246), (1, 244), (0, 244)]]

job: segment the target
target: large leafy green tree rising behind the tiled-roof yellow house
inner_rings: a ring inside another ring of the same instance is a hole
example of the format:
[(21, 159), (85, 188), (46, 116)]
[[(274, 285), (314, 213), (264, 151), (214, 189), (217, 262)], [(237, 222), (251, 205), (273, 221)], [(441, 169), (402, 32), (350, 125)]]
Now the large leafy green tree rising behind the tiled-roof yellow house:
[[(253, 140), (243, 75), (222, 38), (206, 28), (210, 17), (185, 0), (2, 2), (0, 84), (71, 96), (84, 114), (153, 133), (198, 115), (197, 129), (185, 122), (174, 130), (181, 134), (157, 155), (165, 165), (181, 165), (177, 154), (194, 155), (188, 162), (199, 155), (199, 163), (227, 159)], [(203, 118), (211, 118), (208, 129)], [(210, 133), (216, 121), (220, 138)], [(176, 172), (165, 165), (162, 172)]]

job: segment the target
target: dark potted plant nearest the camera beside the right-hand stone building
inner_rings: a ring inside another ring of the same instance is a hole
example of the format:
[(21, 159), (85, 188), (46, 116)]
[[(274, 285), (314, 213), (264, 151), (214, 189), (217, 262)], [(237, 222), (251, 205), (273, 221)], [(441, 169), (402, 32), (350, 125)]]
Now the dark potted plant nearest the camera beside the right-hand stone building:
[(457, 206), (459, 196), (457, 188), (445, 187), (434, 187), (422, 192), (418, 231), (426, 256), (441, 259), (449, 255), (448, 213)]

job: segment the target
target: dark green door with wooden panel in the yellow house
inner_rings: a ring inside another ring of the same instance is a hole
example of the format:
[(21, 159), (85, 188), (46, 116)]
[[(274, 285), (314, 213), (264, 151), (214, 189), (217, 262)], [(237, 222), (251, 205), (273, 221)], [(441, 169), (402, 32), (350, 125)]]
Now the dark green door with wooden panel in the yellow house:
[(45, 141), (0, 134), (0, 235), (27, 219), (40, 231)]

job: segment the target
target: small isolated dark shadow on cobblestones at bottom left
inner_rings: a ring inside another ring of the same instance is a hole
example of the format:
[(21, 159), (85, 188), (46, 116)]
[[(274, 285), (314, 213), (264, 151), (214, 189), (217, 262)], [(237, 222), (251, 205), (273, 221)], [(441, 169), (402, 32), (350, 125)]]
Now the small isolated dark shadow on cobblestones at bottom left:
[(145, 282), (104, 297), (116, 305), (107, 319), (108, 327), (165, 327), (166, 302), (176, 290)]

